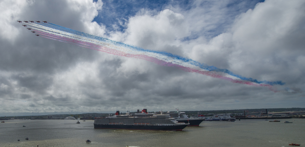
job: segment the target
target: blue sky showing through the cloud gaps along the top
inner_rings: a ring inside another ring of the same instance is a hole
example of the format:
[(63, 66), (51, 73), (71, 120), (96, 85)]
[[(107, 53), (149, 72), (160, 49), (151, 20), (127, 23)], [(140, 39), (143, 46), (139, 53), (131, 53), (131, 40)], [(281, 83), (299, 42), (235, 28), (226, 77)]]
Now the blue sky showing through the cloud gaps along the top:
[[(97, 0), (94, 0), (97, 2)], [(264, 0), (252, 0), (252, 1), (239, 1), (232, 0), (226, 2), (221, 9), (226, 11), (224, 19), (213, 24), (215, 27), (210, 30), (202, 32), (193, 32), (191, 36), (185, 38), (197, 38), (198, 36), (207, 36), (209, 38), (215, 37), (228, 29), (229, 26), (234, 22), (235, 17), (241, 13), (246, 12), (248, 9), (253, 9), (254, 6)], [(102, 10), (99, 11), (93, 21), (105, 25), (108, 31), (121, 31), (124, 32), (126, 29), (126, 23), (130, 17), (135, 16), (141, 9), (150, 10), (158, 14), (158, 12), (172, 8), (179, 9), (182, 14), (191, 11), (194, 8), (209, 9), (212, 5), (217, 5), (218, 1), (201, 1), (194, 3), (193, 0), (156, 0), (156, 1), (125, 1), (125, 0), (105, 0), (103, 1)], [(216, 10), (217, 11), (217, 10)], [(116, 25), (116, 27), (113, 27)]]

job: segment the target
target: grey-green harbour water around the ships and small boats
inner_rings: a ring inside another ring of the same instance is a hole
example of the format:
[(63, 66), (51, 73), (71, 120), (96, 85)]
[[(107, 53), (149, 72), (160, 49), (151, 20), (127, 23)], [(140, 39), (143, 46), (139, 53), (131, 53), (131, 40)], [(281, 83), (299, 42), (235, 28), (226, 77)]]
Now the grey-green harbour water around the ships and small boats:
[[(289, 146), (289, 143), (305, 145), (305, 119), (269, 121), (203, 121), (199, 127), (186, 127), (183, 131), (147, 131), (94, 129), (91, 120), (80, 121), (80, 124), (76, 124), (76, 120), (6, 120), (0, 124), (0, 147), (283, 147)], [(20, 141), (17, 141), (18, 139)], [(87, 139), (91, 140), (91, 143), (86, 143)]]

